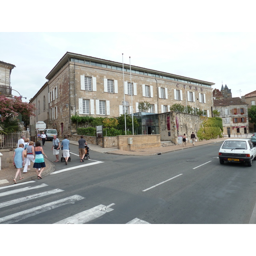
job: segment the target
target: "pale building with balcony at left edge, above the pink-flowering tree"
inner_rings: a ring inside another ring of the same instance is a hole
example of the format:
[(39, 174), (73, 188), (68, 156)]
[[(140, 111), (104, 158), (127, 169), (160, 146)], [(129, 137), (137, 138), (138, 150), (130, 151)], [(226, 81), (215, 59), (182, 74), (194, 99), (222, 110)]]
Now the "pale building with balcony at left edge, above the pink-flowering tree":
[(11, 73), (15, 65), (0, 61), (0, 95), (12, 97)]

